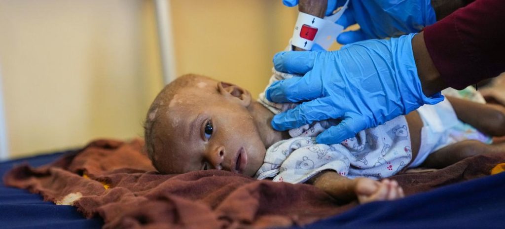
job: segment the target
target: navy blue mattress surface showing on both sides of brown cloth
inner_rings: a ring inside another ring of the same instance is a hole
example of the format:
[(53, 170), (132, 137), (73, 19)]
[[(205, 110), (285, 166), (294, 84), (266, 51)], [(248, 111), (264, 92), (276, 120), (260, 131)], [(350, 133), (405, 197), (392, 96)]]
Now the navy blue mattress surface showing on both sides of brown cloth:
[[(0, 175), (14, 165), (54, 161), (65, 152), (0, 163)], [(303, 228), (505, 228), (505, 173), (442, 187), (392, 202), (375, 202)], [(0, 228), (99, 228), (72, 206), (44, 202), (0, 181)], [(299, 228), (299, 227), (293, 227)]]

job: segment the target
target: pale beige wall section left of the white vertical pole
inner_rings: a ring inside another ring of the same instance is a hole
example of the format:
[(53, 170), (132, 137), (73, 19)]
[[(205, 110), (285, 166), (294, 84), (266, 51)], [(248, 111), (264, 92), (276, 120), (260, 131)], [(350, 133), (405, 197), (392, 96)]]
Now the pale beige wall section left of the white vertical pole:
[(0, 1), (11, 157), (142, 134), (162, 86), (147, 1)]

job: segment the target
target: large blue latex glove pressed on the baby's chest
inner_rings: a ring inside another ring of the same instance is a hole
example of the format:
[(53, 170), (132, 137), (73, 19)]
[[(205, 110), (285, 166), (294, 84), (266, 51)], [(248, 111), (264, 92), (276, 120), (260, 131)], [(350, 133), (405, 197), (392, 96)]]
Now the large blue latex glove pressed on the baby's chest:
[(360, 41), (333, 52), (277, 53), (277, 71), (304, 76), (274, 82), (266, 91), (267, 99), (306, 102), (274, 116), (272, 126), (288, 130), (341, 119), (316, 138), (318, 143), (335, 144), (423, 104), (442, 101), (440, 93), (431, 98), (423, 94), (412, 52), (413, 37)]

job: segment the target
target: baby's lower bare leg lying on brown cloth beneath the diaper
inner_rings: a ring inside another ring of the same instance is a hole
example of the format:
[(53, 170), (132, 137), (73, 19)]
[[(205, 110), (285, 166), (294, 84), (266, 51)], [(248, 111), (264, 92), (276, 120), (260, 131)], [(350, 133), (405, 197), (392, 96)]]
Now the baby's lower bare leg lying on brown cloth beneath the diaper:
[(443, 168), (475, 155), (500, 152), (505, 152), (504, 143), (487, 145), (476, 140), (467, 140), (433, 152), (421, 164), (421, 167)]

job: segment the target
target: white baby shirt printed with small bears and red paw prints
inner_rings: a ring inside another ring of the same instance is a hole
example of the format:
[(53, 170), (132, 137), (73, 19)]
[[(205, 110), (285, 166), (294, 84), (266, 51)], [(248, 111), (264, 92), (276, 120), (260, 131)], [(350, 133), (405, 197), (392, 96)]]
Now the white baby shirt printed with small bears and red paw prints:
[(412, 160), (405, 117), (360, 131), (340, 144), (317, 144), (314, 137), (296, 137), (272, 145), (256, 178), (301, 183), (324, 170), (349, 178), (389, 177)]

